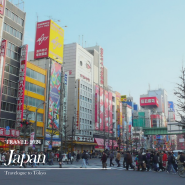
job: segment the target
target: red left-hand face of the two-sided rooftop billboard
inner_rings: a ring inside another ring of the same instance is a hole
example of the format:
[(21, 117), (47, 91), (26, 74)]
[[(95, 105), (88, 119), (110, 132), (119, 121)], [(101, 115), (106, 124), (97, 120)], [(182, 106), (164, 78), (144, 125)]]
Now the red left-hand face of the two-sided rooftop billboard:
[(36, 28), (34, 58), (45, 58), (49, 55), (50, 20), (38, 22)]

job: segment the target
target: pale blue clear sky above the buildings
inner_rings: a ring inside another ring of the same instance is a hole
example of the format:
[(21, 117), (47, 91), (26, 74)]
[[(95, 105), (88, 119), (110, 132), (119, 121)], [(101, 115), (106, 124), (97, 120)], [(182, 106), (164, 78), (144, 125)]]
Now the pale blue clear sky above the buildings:
[[(104, 49), (108, 84), (139, 104), (147, 90), (174, 89), (185, 61), (184, 0), (24, 0), (24, 43), (34, 50), (37, 21), (60, 20), (64, 43)], [(82, 45), (82, 40), (80, 41)], [(184, 64), (185, 65), (185, 64)]]

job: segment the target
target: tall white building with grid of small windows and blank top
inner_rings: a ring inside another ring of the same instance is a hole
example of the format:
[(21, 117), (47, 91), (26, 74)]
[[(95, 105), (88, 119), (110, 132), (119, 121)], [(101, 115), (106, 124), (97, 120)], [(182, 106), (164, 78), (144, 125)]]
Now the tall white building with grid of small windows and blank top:
[(87, 50), (77, 43), (64, 45), (64, 71), (70, 71), (65, 124), (69, 138), (75, 140), (75, 151), (90, 151), (94, 146), (93, 67), (93, 56)]

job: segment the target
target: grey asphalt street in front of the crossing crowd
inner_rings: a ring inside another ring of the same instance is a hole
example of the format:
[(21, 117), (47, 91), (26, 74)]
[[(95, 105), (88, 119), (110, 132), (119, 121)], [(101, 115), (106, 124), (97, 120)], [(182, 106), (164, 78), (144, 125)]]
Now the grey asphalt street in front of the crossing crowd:
[[(166, 172), (154, 173), (137, 172), (133, 170), (126, 171), (123, 167), (117, 167), (114, 161), (114, 167), (107, 170), (101, 168), (100, 159), (89, 160), (87, 169), (80, 168), (81, 160), (73, 164), (64, 164), (63, 168), (58, 168), (55, 161), (54, 165), (39, 165), (38, 168), (17, 168), (0, 166), (1, 185), (11, 184), (62, 184), (62, 185), (99, 185), (99, 184), (131, 184), (131, 185), (164, 185), (164, 184), (183, 184), (184, 179), (178, 175), (167, 174)], [(120, 162), (122, 164), (122, 161)], [(109, 164), (109, 160), (107, 161)], [(12, 169), (15, 168), (15, 169)], [(42, 169), (40, 169), (42, 168)], [(50, 168), (50, 169), (49, 169)], [(57, 168), (57, 169), (52, 169)], [(76, 169), (70, 169), (76, 168)], [(16, 172), (17, 171), (17, 172)], [(16, 172), (11, 175), (10, 172)], [(22, 173), (22, 175), (18, 174)], [(30, 173), (30, 175), (28, 175)]]

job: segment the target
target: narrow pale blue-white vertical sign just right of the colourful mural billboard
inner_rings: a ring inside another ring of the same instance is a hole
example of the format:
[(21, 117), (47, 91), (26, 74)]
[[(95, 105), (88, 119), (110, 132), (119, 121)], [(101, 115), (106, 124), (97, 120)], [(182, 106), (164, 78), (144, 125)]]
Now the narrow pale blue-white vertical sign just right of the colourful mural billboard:
[(68, 97), (68, 78), (69, 71), (64, 73), (64, 100), (63, 100), (63, 124), (65, 125), (65, 121), (67, 120), (67, 97)]

